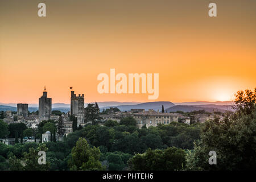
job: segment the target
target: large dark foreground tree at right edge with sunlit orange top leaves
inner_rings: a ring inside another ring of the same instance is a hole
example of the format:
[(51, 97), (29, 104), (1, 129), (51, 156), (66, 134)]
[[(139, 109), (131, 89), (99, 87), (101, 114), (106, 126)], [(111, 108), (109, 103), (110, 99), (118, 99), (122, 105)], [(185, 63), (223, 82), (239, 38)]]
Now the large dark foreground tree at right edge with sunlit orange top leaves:
[[(256, 169), (255, 93), (246, 90), (236, 94), (234, 114), (224, 120), (214, 118), (205, 123), (201, 140), (188, 156), (189, 169), (251, 170)], [(209, 151), (217, 154), (217, 165), (208, 164)]]

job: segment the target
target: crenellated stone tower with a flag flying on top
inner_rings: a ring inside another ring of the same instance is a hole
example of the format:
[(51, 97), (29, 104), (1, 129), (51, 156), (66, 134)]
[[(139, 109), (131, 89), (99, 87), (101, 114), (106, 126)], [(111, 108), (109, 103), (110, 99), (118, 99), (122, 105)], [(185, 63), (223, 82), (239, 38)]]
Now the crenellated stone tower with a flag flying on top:
[(77, 118), (77, 127), (84, 123), (84, 94), (76, 96), (71, 90), (71, 115)]

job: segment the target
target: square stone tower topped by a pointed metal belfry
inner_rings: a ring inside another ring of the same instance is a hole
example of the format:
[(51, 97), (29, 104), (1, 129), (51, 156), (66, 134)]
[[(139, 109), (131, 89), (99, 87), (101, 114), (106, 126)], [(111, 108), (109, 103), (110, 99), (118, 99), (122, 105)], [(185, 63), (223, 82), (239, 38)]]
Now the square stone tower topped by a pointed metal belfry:
[(52, 98), (47, 98), (46, 87), (44, 87), (43, 96), (39, 98), (39, 117), (51, 118)]

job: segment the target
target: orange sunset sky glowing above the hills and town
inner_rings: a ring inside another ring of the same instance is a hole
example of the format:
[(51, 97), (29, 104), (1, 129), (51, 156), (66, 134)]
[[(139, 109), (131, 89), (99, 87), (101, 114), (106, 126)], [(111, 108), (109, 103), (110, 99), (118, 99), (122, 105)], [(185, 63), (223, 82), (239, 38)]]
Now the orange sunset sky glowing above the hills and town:
[[(38, 16), (38, 3), (47, 16)], [(210, 2), (217, 17), (208, 16)], [(97, 76), (159, 73), (148, 94), (99, 94)], [(256, 1), (0, 2), (0, 102), (225, 101), (256, 86)]]

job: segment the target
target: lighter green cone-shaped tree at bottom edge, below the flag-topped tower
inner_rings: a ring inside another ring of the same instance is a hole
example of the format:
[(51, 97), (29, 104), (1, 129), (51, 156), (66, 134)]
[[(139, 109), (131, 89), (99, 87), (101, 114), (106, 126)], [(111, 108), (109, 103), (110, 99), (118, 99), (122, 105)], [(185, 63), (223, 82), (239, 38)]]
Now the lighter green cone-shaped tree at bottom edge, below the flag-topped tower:
[(76, 146), (71, 152), (72, 158), (69, 160), (71, 170), (101, 170), (104, 169), (100, 163), (101, 152), (98, 148), (90, 148), (84, 138), (79, 138)]

